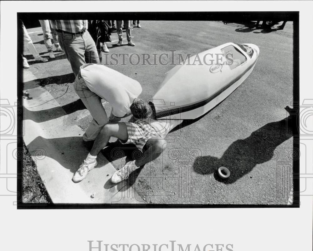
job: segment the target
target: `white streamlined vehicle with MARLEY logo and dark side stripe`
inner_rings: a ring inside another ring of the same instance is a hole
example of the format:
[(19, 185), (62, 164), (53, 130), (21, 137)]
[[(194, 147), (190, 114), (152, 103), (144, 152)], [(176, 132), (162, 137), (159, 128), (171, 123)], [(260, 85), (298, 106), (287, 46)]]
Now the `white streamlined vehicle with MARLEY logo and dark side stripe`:
[(254, 44), (226, 43), (172, 68), (150, 100), (157, 119), (196, 119), (223, 101), (250, 75)]

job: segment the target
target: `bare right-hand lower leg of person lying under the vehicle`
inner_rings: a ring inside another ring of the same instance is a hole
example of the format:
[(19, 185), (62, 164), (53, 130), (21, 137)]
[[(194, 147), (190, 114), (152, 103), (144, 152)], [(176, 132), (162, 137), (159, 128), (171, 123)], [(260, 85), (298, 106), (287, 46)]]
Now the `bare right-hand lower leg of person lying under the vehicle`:
[(166, 140), (160, 139), (160, 137), (153, 137), (146, 144), (149, 145), (149, 148), (145, 151), (145, 155), (141, 160), (136, 160), (135, 165), (137, 168), (159, 157), (167, 145)]

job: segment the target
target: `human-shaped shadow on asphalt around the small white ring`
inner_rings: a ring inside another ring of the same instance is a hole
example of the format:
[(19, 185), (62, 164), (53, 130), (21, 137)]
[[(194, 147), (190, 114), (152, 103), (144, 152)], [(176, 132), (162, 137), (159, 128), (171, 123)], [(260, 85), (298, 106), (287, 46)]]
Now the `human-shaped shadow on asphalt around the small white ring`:
[[(252, 132), (248, 138), (233, 142), (220, 159), (213, 156), (198, 157), (193, 163), (193, 170), (203, 175), (214, 173), (216, 180), (231, 184), (248, 174), (257, 164), (269, 161), (275, 148), (293, 134), (293, 122), (289, 116), (281, 121), (268, 123)], [(217, 175), (221, 166), (230, 171), (226, 180)]]

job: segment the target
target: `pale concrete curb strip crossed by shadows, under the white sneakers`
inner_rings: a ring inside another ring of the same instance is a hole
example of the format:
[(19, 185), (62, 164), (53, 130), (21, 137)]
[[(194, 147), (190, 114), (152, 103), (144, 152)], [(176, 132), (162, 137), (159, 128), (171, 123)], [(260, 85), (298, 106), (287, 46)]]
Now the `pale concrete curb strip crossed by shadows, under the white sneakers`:
[[(84, 180), (76, 184), (71, 180), (88, 154), (82, 144), (83, 131), (74, 125), (53, 96), (36, 84), (36, 77), (29, 70), (24, 70), (23, 77), (24, 82), (28, 82), (28, 89), (24, 90), (28, 98), (23, 102), (24, 142), (53, 203), (144, 203), (125, 182), (117, 185), (110, 182), (115, 168), (101, 154), (97, 158), (97, 167)], [(58, 117), (53, 118), (49, 109), (53, 109)]]

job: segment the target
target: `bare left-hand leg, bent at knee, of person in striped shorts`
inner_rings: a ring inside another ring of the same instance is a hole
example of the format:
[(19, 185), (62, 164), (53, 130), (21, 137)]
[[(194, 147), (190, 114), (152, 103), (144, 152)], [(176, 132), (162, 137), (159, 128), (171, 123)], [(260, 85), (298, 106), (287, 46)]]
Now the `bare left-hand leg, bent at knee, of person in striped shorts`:
[(95, 139), (90, 155), (96, 156), (108, 144), (110, 137), (114, 136), (120, 140), (127, 140), (127, 127), (124, 122), (106, 124)]

